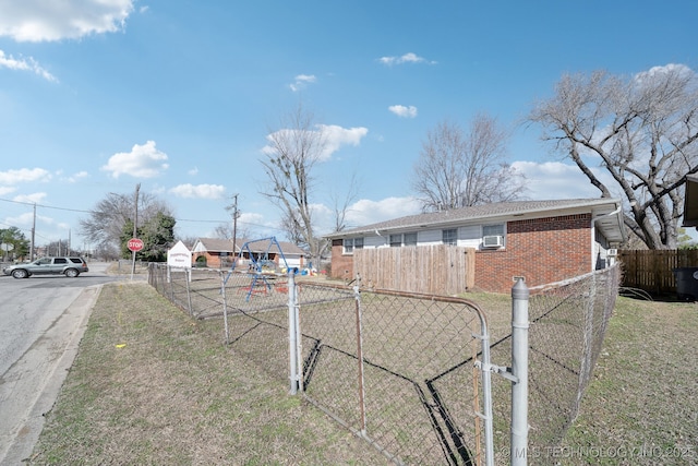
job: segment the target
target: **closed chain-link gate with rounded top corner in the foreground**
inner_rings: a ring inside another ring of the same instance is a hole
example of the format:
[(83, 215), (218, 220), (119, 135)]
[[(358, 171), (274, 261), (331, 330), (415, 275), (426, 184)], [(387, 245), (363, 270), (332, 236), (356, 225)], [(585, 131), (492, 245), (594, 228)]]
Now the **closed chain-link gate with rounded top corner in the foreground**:
[(491, 464), (490, 372), (476, 365), (490, 366), (489, 337), (478, 304), (292, 274), (289, 287), (291, 393), (396, 464)]

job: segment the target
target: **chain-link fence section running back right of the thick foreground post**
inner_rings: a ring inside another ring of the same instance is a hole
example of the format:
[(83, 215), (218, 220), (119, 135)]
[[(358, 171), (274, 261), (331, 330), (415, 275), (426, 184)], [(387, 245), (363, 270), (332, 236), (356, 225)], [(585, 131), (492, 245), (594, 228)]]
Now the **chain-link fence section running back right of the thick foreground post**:
[[(565, 432), (579, 413), (583, 391), (601, 353), (615, 307), (621, 268), (615, 265), (545, 286), (530, 288), (528, 464), (553, 465)], [(512, 358), (512, 335), (494, 342), (492, 360)], [(496, 463), (508, 464), (512, 416), (508, 381), (493, 379)]]

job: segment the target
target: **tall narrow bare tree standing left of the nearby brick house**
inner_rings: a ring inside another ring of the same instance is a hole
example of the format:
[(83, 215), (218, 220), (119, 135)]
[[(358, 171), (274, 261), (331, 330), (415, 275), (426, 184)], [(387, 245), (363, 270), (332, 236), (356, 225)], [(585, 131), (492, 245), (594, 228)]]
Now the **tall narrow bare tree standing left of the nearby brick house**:
[(269, 184), (262, 194), (281, 210), (289, 239), (306, 248), (313, 262), (320, 263), (327, 243), (316, 236), (311, 195), (313, 168), (324, 154), (326, 135), (313, 115), (299, 105), (282, 119), (280, 130), (269, 131), (267, 140), (261, 162)]

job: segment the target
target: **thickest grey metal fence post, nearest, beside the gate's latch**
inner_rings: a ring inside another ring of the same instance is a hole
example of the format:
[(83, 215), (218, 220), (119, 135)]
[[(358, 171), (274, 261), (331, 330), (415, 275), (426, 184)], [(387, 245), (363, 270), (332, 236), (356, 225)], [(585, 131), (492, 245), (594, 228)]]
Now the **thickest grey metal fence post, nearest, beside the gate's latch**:
[(512, 288), (512, 450), (510, 464), (528, 464), (528, 300), (522, 279)]

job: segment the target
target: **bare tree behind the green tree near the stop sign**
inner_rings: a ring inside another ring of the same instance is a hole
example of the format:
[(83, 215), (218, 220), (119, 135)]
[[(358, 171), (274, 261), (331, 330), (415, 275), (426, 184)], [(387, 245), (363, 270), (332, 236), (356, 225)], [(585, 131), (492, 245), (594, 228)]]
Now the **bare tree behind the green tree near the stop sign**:
[[(134, 218), (133, 194), (110, 192), (91, 211), (87, 218), (80, 219), (83, 236), (104, 254), (119, 256), (121, 235), (127, 222)], [(139, 225), (144, 225), (158, 213), (172, 215), (171, 208), (157, 196), (139, 195)]]

